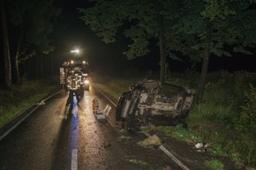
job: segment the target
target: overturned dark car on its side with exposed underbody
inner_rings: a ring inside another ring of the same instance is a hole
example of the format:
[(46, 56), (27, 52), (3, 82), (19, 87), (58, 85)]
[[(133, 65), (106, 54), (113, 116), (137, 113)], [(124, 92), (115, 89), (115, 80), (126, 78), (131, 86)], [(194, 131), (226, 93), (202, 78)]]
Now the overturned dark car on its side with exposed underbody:
[(150, 129), (150, 125), (176, 126), (189, 114), (195, 91), (157, 80), (143, 80), (124, 92), (117, 103), (116, 119), (124, 129)]

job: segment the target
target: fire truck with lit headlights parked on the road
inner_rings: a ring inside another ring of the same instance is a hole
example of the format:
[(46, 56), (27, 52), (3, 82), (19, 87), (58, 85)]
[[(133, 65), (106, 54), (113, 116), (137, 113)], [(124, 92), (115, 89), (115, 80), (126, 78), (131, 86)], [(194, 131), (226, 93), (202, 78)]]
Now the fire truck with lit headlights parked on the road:
[(91, 70), (87, 61), (71, 60), (64, 62), (60, 68), (60, 84), (70, 92), (70, 97), (83, 98), (84, 91), (89, 90), (91, 80)]

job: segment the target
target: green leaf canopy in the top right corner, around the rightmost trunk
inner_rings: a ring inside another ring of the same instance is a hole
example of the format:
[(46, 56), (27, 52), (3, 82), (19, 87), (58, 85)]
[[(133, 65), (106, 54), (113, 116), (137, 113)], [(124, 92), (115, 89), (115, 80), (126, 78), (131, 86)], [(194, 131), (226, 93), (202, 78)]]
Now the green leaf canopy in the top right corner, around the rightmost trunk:
[[(195, 4), (192, 2), (187, 4), (192, 4), (186, 5), (190, 13), (184, 15), (184, 18), (179, 20), (179, 25), (184, 25), (184, 28), (181, 30), (185, 33), (184, 37), (188, 34), (198, 39), (191, 41), (192, 43), (189, 44), (189, 47), (200, 51), (205, 48), (205, 20), (209, 18), (212, 29), (212, 55), (231, 56), (227, 45), (233, 48), (235, 52), (251, 54), (245, 49), (245, 47), (255, 46), (255, 42), (252, 40), (256, 36), (256, 33), (253, 32), (256, 25), (252, 20), (256, 15), (256, 11), (250, 8), (251, 1), (233, 1), (230, 3), (230, 1), (226, 0), (202, 0)], [(186, 21), (187, 23), (185, 23)], [(200, 53), (200, 55), (203, 54)], [(199, 55), (193, 55), (192, 59), (200, 61), (198, 57)]]

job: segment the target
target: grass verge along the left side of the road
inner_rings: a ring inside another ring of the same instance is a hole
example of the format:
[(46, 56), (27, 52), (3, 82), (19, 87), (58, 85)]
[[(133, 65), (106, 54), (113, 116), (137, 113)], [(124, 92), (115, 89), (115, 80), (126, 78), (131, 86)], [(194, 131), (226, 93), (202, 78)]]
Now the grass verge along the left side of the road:
[(0, 89), (0, 127), (42, 100), (57, 85), (51, 84), (47, 79), (41, 79), (12, 85), (11, 91)]

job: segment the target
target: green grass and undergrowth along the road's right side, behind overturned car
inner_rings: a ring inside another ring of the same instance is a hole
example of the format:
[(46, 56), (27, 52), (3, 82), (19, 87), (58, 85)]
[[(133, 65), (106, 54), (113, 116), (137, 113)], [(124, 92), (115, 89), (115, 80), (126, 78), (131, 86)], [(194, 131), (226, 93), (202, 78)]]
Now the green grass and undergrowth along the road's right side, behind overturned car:
[[(145, 74), (144, 74), (145, 75)], [(194, 144), (210, 144), (208, 151), (227, 156), (237, 166), (256, 167), (256, 73), (219, 71), (208, 73), (204, 100), (193, 102), (188, 116), (188, 128), (157, 127), (167, 135)], [(96, 78), (95, 84), (118, 100), (130, 85), (142, 80), (137, 77)], [(167, 83), (197, 90), (200, 74), (195, 72), (170, 74)], [(215, 164), (215, 161), (209, 162)], [(216, 163), (217, 164), (217, 163)]]

